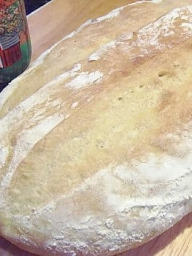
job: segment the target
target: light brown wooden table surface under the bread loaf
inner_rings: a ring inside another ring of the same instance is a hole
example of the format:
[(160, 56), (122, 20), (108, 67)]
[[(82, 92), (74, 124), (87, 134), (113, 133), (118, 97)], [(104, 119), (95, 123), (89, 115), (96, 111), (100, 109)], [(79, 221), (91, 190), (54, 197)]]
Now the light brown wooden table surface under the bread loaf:
[[(99, 17), (115, 7), (131, 2), (135, 0), (53, 0), (28, 16), (33, 47), (32, 60), (87, 19)], [(192, 213), (164, 234), (121, 256), (191, 256), (191, 241)], [(2, 238), (0, 255), (35, 256), (17, 249)]]

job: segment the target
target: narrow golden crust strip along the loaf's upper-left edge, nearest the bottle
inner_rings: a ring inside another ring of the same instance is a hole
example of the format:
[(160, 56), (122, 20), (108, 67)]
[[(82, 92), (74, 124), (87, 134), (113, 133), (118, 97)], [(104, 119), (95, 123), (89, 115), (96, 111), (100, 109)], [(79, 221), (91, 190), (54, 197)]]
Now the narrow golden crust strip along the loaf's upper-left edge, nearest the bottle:
[[(189, 4), (190, 0), (186, 0), (185, 3), (181, 3), (180, 0), (166, 0), (161, 4), (155, 5), (151, 5), (151, 3), (129, 5), (115, 19), (105, 19), (96, 24), (94, 22), (97, 21), (93, 20), (93, 25), (85, 26), (84, 29), (72, 38), (65, 39), (55, 45), (51, 54), (46, 54), (46, 57), (42, 55), (38, 59), (40, 65), (36, 66), (37, 61), (32, 63), (28, 72), (21, 75), (21, 79), (19, 79), (19, 90), (17, 90), (18, 78), (12, 82), (10, 90), (7, 90), (8, 92), (0, 98), (0, 116), (4, 116), (8, 110), (15, 107), (16, 102), (19, 103), (29, 97), (29, 95), (50, 82), (53, 78), (64, 73), (66, 69), (86, 58), (87, 55), (97, 50), (102, 44), (113, 41), (113, 39), (127, 31), (137, 33), (145, 24), (156, 20), (166, 12)], [(91, 37), (90, 34), (92, 35)], [(57, 61), (53, 65), (54, 59), (57, 59)], [(42, 62), (43, 65), (41, 65)], [(41, 79), (38, 78), (39, 74), (41, 74)]]

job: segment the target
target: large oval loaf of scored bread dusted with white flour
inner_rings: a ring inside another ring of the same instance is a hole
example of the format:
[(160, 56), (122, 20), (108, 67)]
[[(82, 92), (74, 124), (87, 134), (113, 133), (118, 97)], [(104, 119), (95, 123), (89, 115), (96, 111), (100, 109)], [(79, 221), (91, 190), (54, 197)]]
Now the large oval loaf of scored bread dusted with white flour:
[(192, 211), (191, 0), (89, 20), (0, 94), (0, 235), (110, 256)]

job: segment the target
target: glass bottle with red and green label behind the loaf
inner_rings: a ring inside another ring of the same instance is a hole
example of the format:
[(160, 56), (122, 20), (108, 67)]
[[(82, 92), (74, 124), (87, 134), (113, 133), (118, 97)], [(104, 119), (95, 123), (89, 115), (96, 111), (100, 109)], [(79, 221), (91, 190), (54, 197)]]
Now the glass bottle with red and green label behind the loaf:
[(29, 65), (31, 43), (23, 0), (0, 0), (0, 91)]

